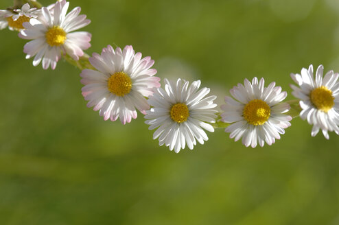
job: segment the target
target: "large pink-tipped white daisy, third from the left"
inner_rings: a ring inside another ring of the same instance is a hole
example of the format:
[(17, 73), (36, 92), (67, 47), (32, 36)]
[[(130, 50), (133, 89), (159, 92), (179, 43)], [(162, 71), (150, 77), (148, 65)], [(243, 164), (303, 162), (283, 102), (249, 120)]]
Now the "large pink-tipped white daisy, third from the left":
[(137, 108), (145, 114), (150, 106), (145, 97), (153, 93), (154, 87), (160, 86), (160, 78), (154, 77), (156, 69), (150, 56), (141, 59), (141, 53), (135, 54), (128, 45), (121, 51), (108, 45), (102, 54), (93, 54), (89, 62), (97, 69), (84, 69), (82, 76), (82, 95), (89, 101), (87, 107), (94, 106), (100, 110), (104, 120), (115, 121), (120, 117), (121, 123), (130, 123), (137, 118)]

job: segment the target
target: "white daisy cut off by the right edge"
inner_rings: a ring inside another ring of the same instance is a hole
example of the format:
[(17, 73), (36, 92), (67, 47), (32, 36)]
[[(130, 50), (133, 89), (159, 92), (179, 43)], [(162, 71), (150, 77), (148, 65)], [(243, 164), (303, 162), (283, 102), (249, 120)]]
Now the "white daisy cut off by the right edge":
[(291, 78), (299, 87), (291, 84), (292, 95), (300, 99), (301, 119), (313, 125), (312, 137), (323, 131), (326, 139), (329, 139), (328, 131), (339, 134), (339, 83), (338, 73), (329, 71), (323, 78), (323, 65), (316, 70), (316, 78), (313, 77), (313, 66), (309, 69), (301, 69), (300, 74), (291, 73)]

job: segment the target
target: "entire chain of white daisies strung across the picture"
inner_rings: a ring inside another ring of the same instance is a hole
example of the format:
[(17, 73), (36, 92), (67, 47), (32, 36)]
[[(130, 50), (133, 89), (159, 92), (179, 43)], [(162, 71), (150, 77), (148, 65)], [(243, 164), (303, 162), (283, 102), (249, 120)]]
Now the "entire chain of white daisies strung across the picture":
[[(31, 8), (36, 1), (28, 1), (21, 8), (0, 10), (0, 29), (9, 27), (19, 32), (19, 37), (28, 39), (23, 51), (26, 58), (32, 58), (33, 65), (42, 62), (43, 69), (56, 68), (62, 56), (70, 56), (77, 61), (84, 51), (91, 47), (89, 32), (74, 32), (91, 21), (80, 15), (76, 7), (67, 13), (69, 2), (65, 0), (42, 8)], [(209, 88), (200, 88), (200, 80), (189, 84), (185, 80), (164, 79), (161, 87), (154, 60), (142, 58), (132, 46), (115, 49), (108, 45), (101, 54), (94, 53), (87, 60), (91, 68), (83, 69), (82, 95), (87, 106), (99, 110), (104, 120), (130, 123), (137, 118), (137, 111), (144, 115), (149, 130), (155, 130), (153, 139), (159, 145), (179, 152), (187, 147), (192, 150), (197, 141), (208, 140), (207, 133), (226, 126), (225, 132), (231, 139), (246, 147), (272, 145), (285, 128), (291, 126), (288, 115), (290, 105), (283, 102), (286, 91), (274, 82), (265, 86), (264, 78), (245, 79), (225, 97), (226, 104), (216, 110), (209, 96)], [(313, 125), (312, 137), (321, 129), (326, 139), (328, 132), (339, 135), (339, 82), (338, 73), (329, 71), (323, 76), (323, 66), (314, 71), (302, 69), (301, 74), (291, 74), (297, 86), (291, 85), (292, 95), (300, 100), (300, 117)]]

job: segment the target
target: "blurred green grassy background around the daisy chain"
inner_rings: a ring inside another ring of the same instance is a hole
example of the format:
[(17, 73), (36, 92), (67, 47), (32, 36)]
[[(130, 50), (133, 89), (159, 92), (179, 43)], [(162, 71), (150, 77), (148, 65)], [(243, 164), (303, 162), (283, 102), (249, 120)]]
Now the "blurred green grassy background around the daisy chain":
[[(53, 1), (41, 1), (49, 5)], [(1, 1), (5, 9), (11, 1)], [(92, 23), (88, 54), (133, 45), (161, 78), (202, 80), (222, 103), (244, 78), (277, 82), (309, 64), (339, 71), (336, 0), (73, 0)], [(292, 120), (246, 148), (222, 129), (175, 154), (143, 116), (126, 126), (86, 108), (80, 71), (25, 60), (0, 32), (0, 224), (339, 224), (339, 137)]]

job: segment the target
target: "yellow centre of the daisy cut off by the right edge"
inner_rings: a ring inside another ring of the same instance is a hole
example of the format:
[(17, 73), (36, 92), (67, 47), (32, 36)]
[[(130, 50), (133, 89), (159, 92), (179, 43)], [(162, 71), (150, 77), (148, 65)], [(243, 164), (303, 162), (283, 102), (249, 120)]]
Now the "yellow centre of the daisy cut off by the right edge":
[(325, 86), (314, 88), (309, 97), (311, 98), (312, 104), (314, 104), (318, 110), (327, 112), (334, 106), (332, 91)]

